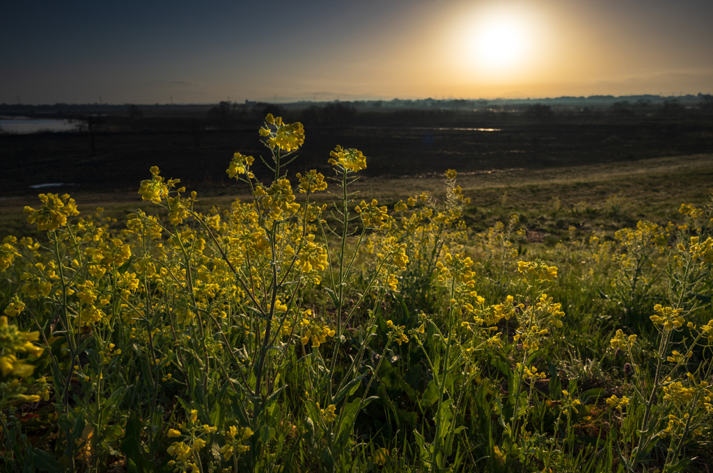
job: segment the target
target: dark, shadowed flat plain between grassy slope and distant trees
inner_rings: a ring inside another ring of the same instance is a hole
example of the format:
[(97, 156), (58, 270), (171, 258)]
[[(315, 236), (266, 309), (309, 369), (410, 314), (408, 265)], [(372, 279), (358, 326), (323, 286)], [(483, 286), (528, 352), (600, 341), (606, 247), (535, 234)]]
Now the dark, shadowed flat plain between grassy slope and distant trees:
[[(335, 145), (364, 152), (369, 166), (364, 176), (382, 178), (432, 175), (448, 168), (541, 170), (713, 151), (711, 115), (674, 120), (481, 115), (448, 122), (352, 128), (305, 125), (304, 147), (290, 169), (293, 174), (315, 167), (326, 170)], [(240, 189), (225, 174), (232, 153), (240, 151), (256, 159), (268, 155), (257, 134), (259, 126), (255, 121), (223, 131), (97, 132), (94, 154), (88, 133), (0, 135), (0, 197), (29, 196), (38, 192), (30, 186), (56, 182), (74, 185), (41, 192), (126, 192), (138, 188), (152, 165), (202, 194), (233, 194)]]

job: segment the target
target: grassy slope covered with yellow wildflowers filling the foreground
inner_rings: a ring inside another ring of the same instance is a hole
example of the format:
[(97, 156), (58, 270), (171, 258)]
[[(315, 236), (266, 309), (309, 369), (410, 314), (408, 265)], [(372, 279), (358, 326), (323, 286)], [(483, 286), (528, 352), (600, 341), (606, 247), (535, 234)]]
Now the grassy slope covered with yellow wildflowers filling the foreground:
[(0, 200), (6, 471), (711, 467), (712, 155), (288, 181), (263, 136), (264, 185)]

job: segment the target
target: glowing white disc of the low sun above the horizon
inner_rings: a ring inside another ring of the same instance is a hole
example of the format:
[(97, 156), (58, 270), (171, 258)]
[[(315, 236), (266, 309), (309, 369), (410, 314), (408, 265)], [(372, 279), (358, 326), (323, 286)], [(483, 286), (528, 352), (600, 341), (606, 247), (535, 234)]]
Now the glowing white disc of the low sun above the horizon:
[(523, 60), (526, 41), (517, 24), (496, 21), (476, 33), (478, 63), (490, 70), (502, 70)]

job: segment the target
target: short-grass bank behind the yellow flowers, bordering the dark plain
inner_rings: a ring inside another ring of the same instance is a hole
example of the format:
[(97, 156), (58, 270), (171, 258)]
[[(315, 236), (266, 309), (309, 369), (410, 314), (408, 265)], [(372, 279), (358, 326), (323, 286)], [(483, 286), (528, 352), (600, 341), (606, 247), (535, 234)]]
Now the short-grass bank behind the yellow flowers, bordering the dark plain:
[[(707, 199), (708, 188), (713, 183), (713, 155), (545, 169), (461, 172), (459, 176), (458, 184), (464, 194), (471, 197), (471, 205), (464, 209), (464, 217), (473, 229), (491, 227), (496, 220), (506, 220), (515, 212), (523, 216), (523, 223), (531, 232), (560, 236), (570, 225), (612, 230), (623, 225), (631, 226), (642, 218), (664, 223), (679, 221), (677, 202), (704, 202)], [(146, 208), (145, 202), (133, 191), (73, 190), (72, 187), (61, 188), (62, 192), (70, 193), (82, 209), (102, 207), (107, 216), (117, 219), (118, 226), (125, 223), (127, 214), (140, 207)], [(443, 194), (443, 177), (435, 173), (416, 177), (362, 177), (354, 184), (354, 190), (393, 206), (400, 199), (421, 192)], [(197, 208), (230, 207), (235, 198), (251, 198), (245, 191), (247, 189), (232, 195), (215, 195), (215, 188), (199, 188)], [(53, 190), (49, 187), (45, 192)], [(220, 189), (218, 192), (225, 191)], [(601, 218), (608, 217), (607, 212), (611, 209), (607, 209), (607, 199), (614, 194), (621, 200), (615, 218)], [(325, 197), (321, 199), (329, 202)], [(26, 224), (26, 215), (22, 213), (24, 206), (36, 202), (34, 195), (0, 199), (0, 237), (39, 234)], [(577, 206), (582, 207), (579, 212), (575, 210)]]

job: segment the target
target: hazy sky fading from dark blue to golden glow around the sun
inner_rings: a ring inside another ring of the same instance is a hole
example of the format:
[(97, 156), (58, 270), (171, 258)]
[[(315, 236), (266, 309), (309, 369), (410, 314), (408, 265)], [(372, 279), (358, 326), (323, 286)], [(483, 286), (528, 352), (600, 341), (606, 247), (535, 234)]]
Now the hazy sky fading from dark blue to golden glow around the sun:
[(710, 0), (15, 1), (0, 103), (713, 93)]

